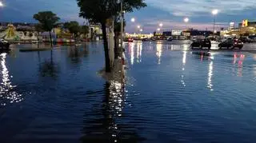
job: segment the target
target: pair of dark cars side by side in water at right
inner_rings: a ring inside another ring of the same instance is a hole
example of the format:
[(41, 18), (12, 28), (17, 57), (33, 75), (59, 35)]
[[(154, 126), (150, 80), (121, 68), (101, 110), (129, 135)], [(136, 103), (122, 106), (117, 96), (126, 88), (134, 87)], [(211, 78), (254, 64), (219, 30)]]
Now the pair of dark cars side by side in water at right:
[[(191, 47), (191, 49), (194, 49), (195, 47), (198, 47), (200, 49), (206, 47), (208, 50), (210, 50), (211, 42), (210, 42), (209, 38), (197, 39), (192, 42), (190, 47)], [(226, 48), (226, 49), (238, 48), (239, 50), (241, 50), (243, 47), (243, 42), (237, 38), (227, 38), (225, 41), (220, 42), (218, 44), (218, 47), (220, 50), (222, 48)]]

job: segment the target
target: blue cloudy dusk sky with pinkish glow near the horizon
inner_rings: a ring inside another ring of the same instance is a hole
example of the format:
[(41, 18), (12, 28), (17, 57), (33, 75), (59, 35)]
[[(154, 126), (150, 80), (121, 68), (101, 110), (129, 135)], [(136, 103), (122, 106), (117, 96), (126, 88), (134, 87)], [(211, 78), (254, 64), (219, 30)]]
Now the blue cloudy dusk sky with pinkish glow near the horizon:
[[(42, 10), (51, 10), (62, 22), (76, 20), (81, 24), (84, 19), (78, 18), (79, 9), (76, 0), (0, 0), (0, 22), (36, 22), (33, 14)], [(256, 20), (256, 1), (252, 0), (146, 0), (146, 8), (125, 14), (126, 32), (137, 32), (141, 26), (143, 33), (153, 33), (162, 23), (161, 30), (182, 30), (194, 28), (212, 30), (214, 16), (211, 11), (218, 9), (216, 25), (219, 30), (226, 28), (230, 22)], [(135, 22), (130, 22), (135, 18)], [(184, 18), (190, 18), (187, 24)]]

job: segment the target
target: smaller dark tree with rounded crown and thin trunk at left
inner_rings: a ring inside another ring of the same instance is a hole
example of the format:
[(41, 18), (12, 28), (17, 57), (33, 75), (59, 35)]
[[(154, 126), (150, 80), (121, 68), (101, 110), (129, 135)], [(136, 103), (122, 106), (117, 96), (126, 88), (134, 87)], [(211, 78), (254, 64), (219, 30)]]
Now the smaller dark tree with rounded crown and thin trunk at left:
[[(34, 14), (33, 18), (35, 20), (38, 20), (40, 25), (42, 26), (42, 30), (50, 31), (54, 28), (56, 23), (60, 18), (57, 17), (56, 14), (54, 14), (51, 11), (42, 11), (38, 12), (38, 14)], [(53, 46), (51, 34), (50, 34), (50, 45)]]

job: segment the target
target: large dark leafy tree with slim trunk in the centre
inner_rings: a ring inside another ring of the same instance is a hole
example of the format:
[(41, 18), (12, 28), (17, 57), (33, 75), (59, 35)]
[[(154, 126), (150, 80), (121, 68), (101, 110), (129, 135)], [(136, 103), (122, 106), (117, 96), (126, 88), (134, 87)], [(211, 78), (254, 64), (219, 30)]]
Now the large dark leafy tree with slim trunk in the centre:
[[(118, 16), (120, 4), (117, 0), (77, 0), (77, 2), (80, 7), (80, 17), (88, 19), (89, 22), (100, 23), (102, 25), (106, 72), (110, 72), (106, 20)], [(123, 10), (126, 12), (132, 12), (134, 9), (140, 9), (144, 6), (146, 6), (144, 0), (123, 0)]]

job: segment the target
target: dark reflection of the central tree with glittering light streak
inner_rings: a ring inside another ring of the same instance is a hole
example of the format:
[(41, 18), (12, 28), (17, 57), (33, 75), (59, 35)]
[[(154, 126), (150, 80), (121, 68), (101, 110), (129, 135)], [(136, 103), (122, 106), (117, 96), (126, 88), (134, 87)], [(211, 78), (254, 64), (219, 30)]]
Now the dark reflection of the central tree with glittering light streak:
[(126, 117), (122, 116), (127, 104), (128, 91), (125, 88), (125, 81), (125, 71), (122, 66), (121, 74), (117, 74), (117, 77), (111, 81), (106, 81), (103, 90), (87, 93), (88, 95), (99, 93), (103, 96), (103, 100), (97, 104), (101, 106), (100, 109), (92, 108), (92, 111), (85, 114), (84, 135), (81, 138), (83, 142), (130, 143), (142, 140), (133, 130), (134, 125), (126, 125), (124, 122)]

